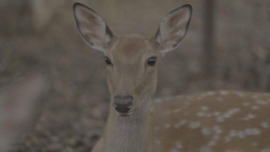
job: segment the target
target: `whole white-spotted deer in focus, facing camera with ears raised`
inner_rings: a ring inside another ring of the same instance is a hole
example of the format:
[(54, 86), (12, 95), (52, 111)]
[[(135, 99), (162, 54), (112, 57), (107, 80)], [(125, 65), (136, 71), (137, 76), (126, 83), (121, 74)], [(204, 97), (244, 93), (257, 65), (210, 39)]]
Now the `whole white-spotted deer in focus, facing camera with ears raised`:
[(170, 11), (150, 37), (115, 35), (79, 2), (73, 13), (82, 39), (104, 53), (110, 93), (92, 152), (270, 151), (270, 93), (215, 90), (151, 99), (162, 57), (186, 35), (191, 4)]

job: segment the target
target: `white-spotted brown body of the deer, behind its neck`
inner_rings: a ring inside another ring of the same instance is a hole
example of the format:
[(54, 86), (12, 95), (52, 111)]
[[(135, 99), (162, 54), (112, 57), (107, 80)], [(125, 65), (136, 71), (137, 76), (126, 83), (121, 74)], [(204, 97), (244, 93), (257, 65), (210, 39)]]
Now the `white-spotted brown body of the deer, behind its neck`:
[(270, 94), (207, 91), (153, 101), (161, 151), (270, 151)]

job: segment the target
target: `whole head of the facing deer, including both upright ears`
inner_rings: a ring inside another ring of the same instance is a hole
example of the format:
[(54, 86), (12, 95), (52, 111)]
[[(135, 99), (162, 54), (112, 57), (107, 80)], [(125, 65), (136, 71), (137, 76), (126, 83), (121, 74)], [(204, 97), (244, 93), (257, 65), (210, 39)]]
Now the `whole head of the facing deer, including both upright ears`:
[(82, 38), (104, 53), (111, 107), (121, 116), (132, 114), (155, 92), (160, 59), (185, 36), (191, 6), (171, 11), (150, 38), (136, 34), (115, 36), (94, 10), (80, 3), (74, 3), (73, 10)]

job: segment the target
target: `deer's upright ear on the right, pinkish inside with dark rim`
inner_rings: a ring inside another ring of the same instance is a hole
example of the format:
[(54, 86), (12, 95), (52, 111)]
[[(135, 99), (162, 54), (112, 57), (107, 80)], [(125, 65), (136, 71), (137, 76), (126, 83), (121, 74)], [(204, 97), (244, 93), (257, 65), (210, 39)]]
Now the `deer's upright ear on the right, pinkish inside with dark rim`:
[(161, 53), (176, 48), (183, 40), (192, 14), (190, 4), (182, 5), (165, 16), (154, 36)]

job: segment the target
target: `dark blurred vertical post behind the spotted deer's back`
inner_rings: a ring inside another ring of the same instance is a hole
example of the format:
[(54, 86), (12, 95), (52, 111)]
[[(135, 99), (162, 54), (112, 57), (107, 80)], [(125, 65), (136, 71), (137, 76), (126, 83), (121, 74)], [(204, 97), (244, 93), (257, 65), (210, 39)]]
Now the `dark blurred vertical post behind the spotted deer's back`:
[(212, 89), (214, 78), (214, 0), (205, 0), (204, 2), (204, 37), (203, 37), (203, 49), (204, 49), (204, 67), (207, 77), (207, 88)]

